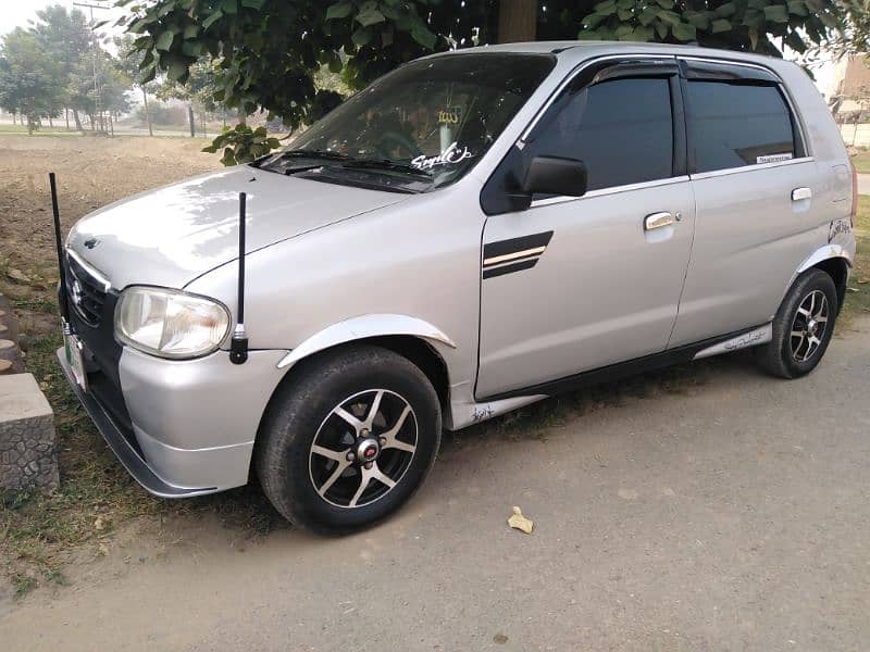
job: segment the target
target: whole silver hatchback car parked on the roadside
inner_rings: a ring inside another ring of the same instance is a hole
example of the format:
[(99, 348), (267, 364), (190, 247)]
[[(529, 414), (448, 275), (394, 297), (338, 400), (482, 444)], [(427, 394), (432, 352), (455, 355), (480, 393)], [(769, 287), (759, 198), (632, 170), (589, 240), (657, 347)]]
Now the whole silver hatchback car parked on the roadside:
[(59, 358), (150, 492), (253, 465), (288, 519), (349, 531), (408, 500), (443, 427), (746, 347), (809, 373), (854, 213), (837, 127), (791, 63), (438, 54), (284, 151), (78, 222)]

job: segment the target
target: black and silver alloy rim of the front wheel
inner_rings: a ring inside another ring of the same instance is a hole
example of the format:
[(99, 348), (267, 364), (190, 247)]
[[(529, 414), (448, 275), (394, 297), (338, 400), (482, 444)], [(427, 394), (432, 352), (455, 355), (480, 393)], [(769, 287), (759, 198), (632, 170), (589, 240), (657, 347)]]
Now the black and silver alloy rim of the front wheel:
[(417, 415), (405, 398), (387, 389), (358, 392), (318, 428), (308, 460), (311, 484), (333, 505), (369, 505), (401, 480), (417, 438)]

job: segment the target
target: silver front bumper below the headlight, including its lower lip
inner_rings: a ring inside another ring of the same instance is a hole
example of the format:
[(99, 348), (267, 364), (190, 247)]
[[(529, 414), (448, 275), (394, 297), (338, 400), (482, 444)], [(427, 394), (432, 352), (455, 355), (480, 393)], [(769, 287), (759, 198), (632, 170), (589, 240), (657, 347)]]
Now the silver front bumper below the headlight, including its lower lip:
[(154, 496), (186, 498), (247, 484), (253, 440), (285, 354), (252, 351), (246, 364), (233, 365), (223, 351), (166, 361), (125, 349), (117, 367), (122, 410), (75, 384), (63, 349), (58, 359), (129, 474)]

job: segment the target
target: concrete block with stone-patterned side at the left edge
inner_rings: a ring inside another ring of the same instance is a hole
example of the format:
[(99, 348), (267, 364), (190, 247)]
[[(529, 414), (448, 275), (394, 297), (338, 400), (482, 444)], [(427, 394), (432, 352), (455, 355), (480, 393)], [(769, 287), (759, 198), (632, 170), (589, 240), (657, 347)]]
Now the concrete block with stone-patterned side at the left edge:
[(0, 376), (0, 491), (59, 482), (51, 405), (33, 374)]

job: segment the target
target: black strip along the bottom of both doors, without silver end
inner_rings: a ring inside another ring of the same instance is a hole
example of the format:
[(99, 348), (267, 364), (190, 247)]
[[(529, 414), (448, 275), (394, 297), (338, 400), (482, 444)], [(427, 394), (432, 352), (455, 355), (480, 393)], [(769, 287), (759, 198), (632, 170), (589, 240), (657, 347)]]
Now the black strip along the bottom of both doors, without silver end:
[(594, 385), (612, 383), (613, 380), (619, 380), (629, 376), (635, 376), (645, 372), (651, 372), (666, 366), (691, 362), (692, 359), (695, 358), (696, 353), (706, 349), (707, 347), (712, 347), (713, 344), (738, 337), (745, 333), (755, 330), (762, 325), (763, 324), (759, 324), (758, 326), (753, 326), (751, 328), (744, 328), (726, 335), (711, 337), (709, 339), (686, 344), (684, 347), (668, 349), (661, 353), (652, 353), (651, 355), (644, 355), (643, 358), (635, 358), (634, 360), (618, 362), (617, 364), (611, 364), (588, 372), (582, 372), (580, 374), (574, 374), (573, 376), (567, 376), (557, 380), (548, 380), (547, 383), (540, 383), (538, 385), (533, 385), (532, 387), (511, 389), (509, 391), (504, 391), (501, 393), (485, 398), (475, 397), (475, 399), (483, 403), (485, 401), (500, 401), (501, 399), (512, 399), (514, 397), (530, 397), (535, 394), (554, 396), (569, 391), (576, 391), (579, 389), (585, 389)]

